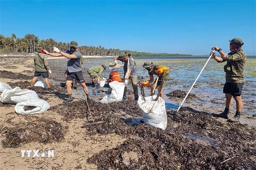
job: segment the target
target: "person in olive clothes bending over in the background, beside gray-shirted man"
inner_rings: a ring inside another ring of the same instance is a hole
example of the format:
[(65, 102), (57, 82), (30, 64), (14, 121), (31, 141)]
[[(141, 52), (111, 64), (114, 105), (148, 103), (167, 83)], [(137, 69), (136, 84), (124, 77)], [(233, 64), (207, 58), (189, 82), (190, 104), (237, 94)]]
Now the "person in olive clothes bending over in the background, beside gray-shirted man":
[(103, 78), (101, 73), (106, 70), (106, 65), (102, 64), (101, 66), (94, 66), (94, 67), (90, 67), (87, 71), (87, 73), (90, 75), (90, 77), (92, 78), (92, 87), (95, 87), (94, 82), (95, 82), (95, 78), (97, 78), (97, 83), (98, 83), (98, 89), (100, 88), (100, 78)]

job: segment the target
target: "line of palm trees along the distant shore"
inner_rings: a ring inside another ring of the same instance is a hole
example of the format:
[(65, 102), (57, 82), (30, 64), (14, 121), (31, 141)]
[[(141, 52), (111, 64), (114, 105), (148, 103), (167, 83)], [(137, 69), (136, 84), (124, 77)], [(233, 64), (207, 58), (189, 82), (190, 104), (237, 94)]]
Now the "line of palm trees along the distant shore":
[[(69, 49), (69, 43), (57, 42), (52, 38), (39, 40), (38, 36), (27, 34), (23, 38), (18, 38), (14, 33), (11, 37), (0, 35), (0, 53), (33, 53), (37, 47), (42, 47), (52, 52), (52, 47), (58, 47), (65, 51)], [(190, 54), (169, 54), (169, 53), (147, 53), (132, 50), (120, 50), (115, 48), (104, 48), (94, 46), (79, 46), (79, 52), (85, 56), (118, 56), (121, 52), (132, 54), (134, 57), (144, 56), (191, 56)]]

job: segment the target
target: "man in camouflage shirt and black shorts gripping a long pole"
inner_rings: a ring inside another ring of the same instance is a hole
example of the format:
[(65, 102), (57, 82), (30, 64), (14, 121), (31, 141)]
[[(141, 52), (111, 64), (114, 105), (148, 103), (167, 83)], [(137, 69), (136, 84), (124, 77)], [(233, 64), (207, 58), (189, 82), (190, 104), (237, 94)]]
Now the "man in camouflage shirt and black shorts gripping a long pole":
[(242, 114), (243, 100), (242, 90), (244, 86), (244, 64), (246, 61), (246, 54), (243, 52), (244, 45), (241, 38), (233, 38), (229, 44), (230, 53), (226, 54), (221, 48), (214, 46), (212, 49), (219, 52), (220, 56), (216, 56), (212, 51), (211, 55), (218, 63), (227, 62), (224, 66), (226, 72), (226, 83), (223, 87), (223, 93), (226, 96), (226, 107), (224, 112), (218, 114), (218, 117), (228, 119), (229, 109), (233, 104), (233, 97), (236, 101), (235, 119), (238, 119)]

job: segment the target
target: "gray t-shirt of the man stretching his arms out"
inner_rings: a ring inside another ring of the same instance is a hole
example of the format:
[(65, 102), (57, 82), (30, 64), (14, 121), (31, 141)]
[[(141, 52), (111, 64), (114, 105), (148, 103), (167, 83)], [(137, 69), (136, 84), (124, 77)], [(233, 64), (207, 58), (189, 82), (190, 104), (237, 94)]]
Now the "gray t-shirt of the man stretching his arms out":
[(80, 60), (82, 57), (82, 54), (79, 52), (71, 52), (70, 50), (67, 50), (66, 53), (68, 54), (73, 54), (76, 56), (76, 58), (68, 58), (68, 64), (67, 64), (67, 69), (69, 73), (74, 73), (81, 71), (81, 64)]

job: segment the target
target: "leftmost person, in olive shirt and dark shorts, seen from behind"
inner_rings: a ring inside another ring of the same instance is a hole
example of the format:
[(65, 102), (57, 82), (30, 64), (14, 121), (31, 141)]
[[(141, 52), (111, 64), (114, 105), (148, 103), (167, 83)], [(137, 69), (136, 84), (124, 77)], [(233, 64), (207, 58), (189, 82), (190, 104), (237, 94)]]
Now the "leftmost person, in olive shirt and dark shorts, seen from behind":
[(34, 56), (34, 64), (35, 64), (35, 73), (33, 79), (30, 81), (30, 89), (34, 87), (39, 76), (42, 75), (44, 81), (46, 83), (48, 90), (53, 90), (50, 86), (49, 74), (52, 74), (51, 68), (49, 66), (47, 58), (41, 53), (41, 47), (38, 47), (35, 56)]

